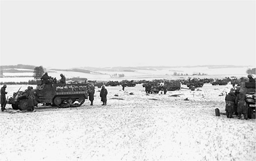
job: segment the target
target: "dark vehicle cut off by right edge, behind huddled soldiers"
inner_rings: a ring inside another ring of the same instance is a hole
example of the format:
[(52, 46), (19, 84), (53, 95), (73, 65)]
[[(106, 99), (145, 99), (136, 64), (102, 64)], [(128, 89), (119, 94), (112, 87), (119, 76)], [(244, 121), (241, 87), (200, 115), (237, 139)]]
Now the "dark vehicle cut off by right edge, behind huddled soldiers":
[(246, 107), (248, 109), (248, 118), (255, 117), (255, 82), (242, 82), (241, 89), (244, 90), (246, 95)]

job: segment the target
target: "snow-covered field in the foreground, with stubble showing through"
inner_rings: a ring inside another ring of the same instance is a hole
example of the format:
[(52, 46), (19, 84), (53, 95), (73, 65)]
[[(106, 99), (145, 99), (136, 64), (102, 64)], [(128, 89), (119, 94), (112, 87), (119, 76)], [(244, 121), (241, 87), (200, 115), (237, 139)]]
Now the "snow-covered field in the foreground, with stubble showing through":
[[(7, 95), (19, 87), (7, 85)], [(215, 116), (215, 108), (225, 112), (225, 94), (219, 95), (230, 87), (205, 84), (165, 95), (146, 94), (142, 85), (125, 92), (107, 87), (107, 106), (96, 88), (94, 106), (86, 100), (79, 108), (35, 112), (7, 104), (0, 112), (0, 160), (255, 160), (255, 119)]]

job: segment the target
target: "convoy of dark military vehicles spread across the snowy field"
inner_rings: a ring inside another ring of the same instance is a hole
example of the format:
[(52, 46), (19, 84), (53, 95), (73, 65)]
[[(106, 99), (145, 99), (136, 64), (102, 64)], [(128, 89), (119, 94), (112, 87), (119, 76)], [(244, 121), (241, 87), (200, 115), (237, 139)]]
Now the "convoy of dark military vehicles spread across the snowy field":
[[(144, 83), (142, 86), (146, 88), (146, 93), (158, 93), (163, 91), (175, 91), (181, 89), (180, 80), (153, 80)], [(126, 84), (126, 86), (135, 86), (134, 81), (109, 81), (107, 83), (94, 82), (94, 86), (101, 87), (103, 84), (106, 86), (117, 86), (119, 84)], [(217, 79), (211, 82), (212, 85), (227, 85), (228, 79)], [(186, 83), (187, 86), (202, 87), (204, 82), (197, 79), (190, 79)], [(79, 107), (88, 99), (88, 83), (70, 83), (70, 84), (57, 84), (48, 81), (42, 84), (41, 81), (37, 81), (36, 89), (34, 90), (35, 106), (38, 103), (45, 103), (51, 106), (57, 106), (59, 108), (66, 107)], [(255, 83), (253, 82), (240, 82), (241, 88), (244, 89), (246, 94), (246, 106), (248, 109), (248, 117), (255, 116)], [(13, 96), (7, 100), (7, 103), (11, 104), (14, 110), (28, 110), (27, 90), (14, 92)]]

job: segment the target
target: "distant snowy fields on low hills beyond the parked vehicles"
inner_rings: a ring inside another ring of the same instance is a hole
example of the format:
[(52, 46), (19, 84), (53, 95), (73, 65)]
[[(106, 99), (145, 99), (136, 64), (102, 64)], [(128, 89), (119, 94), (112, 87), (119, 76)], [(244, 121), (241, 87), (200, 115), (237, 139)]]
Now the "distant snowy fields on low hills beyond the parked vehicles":
[[(166, 68), (166, 69), (154, 69), (154, 70), (134, 70), (134, 71), (95, 71), (92, 73), (80, 73), (75, 71), (59, 71), (59, 70), (47, 70), (49, 76), (56, 77), (60, 79), (60, 74), (66, 76), (66, 78), (72, 77), (80, 77), (80, 78), (87, 78), (89, 80), (99, 80), (99, 81), (122, 81), (124, 79), (127, 80), (151, 80), (151, 79), (178, 79), (178, 78), (185, 78), (188, 77), (198, 77), (198, 78), (224, 78), (224, 77), (243, 77), (247, 76), (246, 74), (247, 67), (243, 68)], [(23, 69), (25, 70), (25, 69)], [(188, 76), (173, 76), (173, 73), (177, 72), (180, 74), (188, 74)], [(206, 76), (198, 76), (193, 74), (201, 73), (207, 74)], [(114, 74), (124, 74), (124, 77), (113, 78), (111, 75)], [(33, 71), (31, 73), (4, 73), (4, 76), (29, 76), (29, 77), (3, 77), (0, 78), (0, 82), (25, 82), (33, 79)], [(14, 80), (14, 81), (13, 81)]]

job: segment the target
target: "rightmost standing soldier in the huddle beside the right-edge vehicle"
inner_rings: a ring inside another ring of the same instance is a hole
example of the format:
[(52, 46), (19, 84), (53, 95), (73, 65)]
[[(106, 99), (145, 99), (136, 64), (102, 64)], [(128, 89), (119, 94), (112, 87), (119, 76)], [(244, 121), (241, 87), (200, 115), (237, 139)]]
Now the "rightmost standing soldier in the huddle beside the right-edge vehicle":
[(246, 107), (246, 102), (245, 102), (246, 96), (244, 94), (244, 90), (241, 89), (239, 91), (239, 94), (236, 96), (236, 103), (237, 105), (237, 112), (239, 115), (239, 119), (242, 118), (242, 114), (244, 115), (244, 119), (247, 119), (247, 107)]

